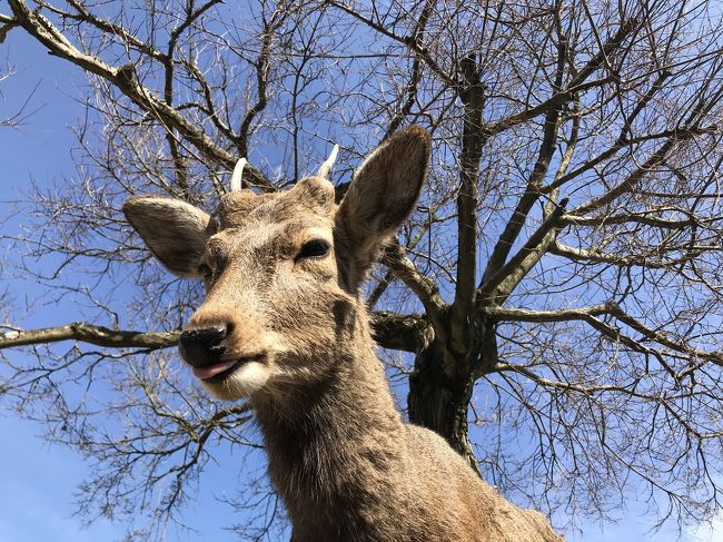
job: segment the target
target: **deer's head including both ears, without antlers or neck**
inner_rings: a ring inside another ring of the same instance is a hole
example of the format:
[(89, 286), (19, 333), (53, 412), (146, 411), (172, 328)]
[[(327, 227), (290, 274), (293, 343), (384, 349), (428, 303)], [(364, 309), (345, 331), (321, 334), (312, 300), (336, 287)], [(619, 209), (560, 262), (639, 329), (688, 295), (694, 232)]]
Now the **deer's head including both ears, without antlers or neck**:
[(231, 191), (215, 220), (178, 200), (125, 204), (160, 262), (206, 285), (179, 347), (206, 388), (227, 400), (284, 394), (348, 358), (359, 284), (410, 213), (428, 156), (426, 131), (398, 134), (367, 158), (339, 206), (321, 177), (274, 195)]

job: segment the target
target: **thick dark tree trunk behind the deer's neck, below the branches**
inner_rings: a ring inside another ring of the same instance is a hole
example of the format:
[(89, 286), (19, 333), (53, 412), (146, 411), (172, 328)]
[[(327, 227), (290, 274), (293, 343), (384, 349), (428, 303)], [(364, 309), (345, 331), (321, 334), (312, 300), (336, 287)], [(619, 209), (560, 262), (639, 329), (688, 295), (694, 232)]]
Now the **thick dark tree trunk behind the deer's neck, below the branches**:
[(453, 354), (429, 345), (417, 354), (409, 378), (409, 422), (442, 435), (479, 473), (468, 436), (467, 412), (474, 387), (472, 375), (449, 377), (445, 366), (469, 366), (449, 359)]

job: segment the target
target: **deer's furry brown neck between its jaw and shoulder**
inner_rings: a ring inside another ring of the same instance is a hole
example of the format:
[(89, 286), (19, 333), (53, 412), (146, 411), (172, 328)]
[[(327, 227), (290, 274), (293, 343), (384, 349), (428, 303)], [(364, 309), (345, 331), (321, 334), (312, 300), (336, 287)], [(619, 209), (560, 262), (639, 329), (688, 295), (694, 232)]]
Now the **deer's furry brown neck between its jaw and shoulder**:
[(340, 525), (361, 529), (359, 514), (374, 513), (358, 503), (384, 503), (399, 491), (390, 473), (403, 471), (405, 430), (368, 328), (361, 332), (321, 383), (281, 404), (255, 402), (269, 474), (295, 530), (338, 536)]

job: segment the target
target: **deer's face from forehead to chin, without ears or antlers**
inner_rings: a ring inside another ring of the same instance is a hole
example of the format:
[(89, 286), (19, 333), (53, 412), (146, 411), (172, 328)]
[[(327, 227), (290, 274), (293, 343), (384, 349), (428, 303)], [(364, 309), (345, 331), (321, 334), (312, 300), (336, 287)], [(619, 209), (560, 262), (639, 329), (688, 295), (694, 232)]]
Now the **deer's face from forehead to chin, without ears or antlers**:
[(314, 177), (276, 196), (224, 197), (220, 230), (198, 264), (207, 297), (180, 338), (181, 356), (215, 395), (273, 392), (330, 368), (339, 319), (355, 304), (337, 279), (335, 210), (334, 187)]

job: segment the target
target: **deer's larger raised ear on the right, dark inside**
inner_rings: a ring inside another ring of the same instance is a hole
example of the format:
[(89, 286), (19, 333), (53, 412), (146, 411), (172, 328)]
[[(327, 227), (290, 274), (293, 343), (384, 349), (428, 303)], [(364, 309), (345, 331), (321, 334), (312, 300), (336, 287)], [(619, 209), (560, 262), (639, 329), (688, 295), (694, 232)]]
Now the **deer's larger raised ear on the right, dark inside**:
[(361, 276), (414, 209), (427, 176), (430, 147), (429, 134), (413, 126), (382, 144), (356, 171), (335, 226)]

